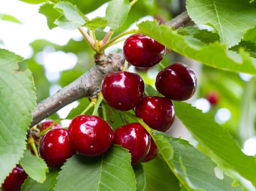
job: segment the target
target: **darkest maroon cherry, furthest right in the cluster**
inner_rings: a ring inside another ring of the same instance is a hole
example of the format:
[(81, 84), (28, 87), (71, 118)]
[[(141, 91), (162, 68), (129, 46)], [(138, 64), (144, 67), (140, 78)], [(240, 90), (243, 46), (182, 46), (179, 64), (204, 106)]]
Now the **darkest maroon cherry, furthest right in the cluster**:
[(183, 101), (196, 92), (197, 79), (191, 68), (184, 64), (173, 63), (157, 74), (155, 85), (163, 96)]

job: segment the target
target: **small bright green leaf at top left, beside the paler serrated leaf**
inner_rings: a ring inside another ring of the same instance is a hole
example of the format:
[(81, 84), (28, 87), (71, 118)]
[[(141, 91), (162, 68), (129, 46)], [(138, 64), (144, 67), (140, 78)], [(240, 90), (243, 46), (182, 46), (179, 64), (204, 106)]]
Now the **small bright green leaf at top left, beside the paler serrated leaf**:
[(51, 3), (45, 3), (39, 8), (39, 13), (43, 14), (47, 18), (47, 25), (50, 29), (57, 27), (54, 23), (56, 19), (61, 16), (61, 13), (54, 9), (54, 5)]

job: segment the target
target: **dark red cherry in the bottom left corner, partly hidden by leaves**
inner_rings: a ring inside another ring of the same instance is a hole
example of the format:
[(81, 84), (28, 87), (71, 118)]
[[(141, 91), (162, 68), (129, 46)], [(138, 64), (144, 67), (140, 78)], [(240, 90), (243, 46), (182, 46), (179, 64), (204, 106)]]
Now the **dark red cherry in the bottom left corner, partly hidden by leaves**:
[(19, 191), (22, 184), (27, 178), (27, 174), (21, 166), (16, 165), (16, 167), (10, 172), (2, 184), (3, 191)]

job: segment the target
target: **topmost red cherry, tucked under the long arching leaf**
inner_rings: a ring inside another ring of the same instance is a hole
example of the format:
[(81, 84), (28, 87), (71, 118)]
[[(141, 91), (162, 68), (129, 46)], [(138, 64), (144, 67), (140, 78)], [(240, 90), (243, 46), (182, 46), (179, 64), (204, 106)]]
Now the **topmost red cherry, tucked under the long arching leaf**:
[(124, 41), (123, 54), (127, 62), (140, 68), (149, 68), (160, 63), (166, 47), (144, 34), (130, 35)]

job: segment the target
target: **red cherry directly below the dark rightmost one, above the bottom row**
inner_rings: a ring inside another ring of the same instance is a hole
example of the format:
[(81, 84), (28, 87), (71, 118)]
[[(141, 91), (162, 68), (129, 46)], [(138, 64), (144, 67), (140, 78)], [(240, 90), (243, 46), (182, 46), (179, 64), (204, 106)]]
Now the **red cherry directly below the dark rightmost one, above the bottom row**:
[(171, 100), (157, 96), (146, 96), (135, 107), (135, 114), (152, 129), (167, 132), (175, 119)]

